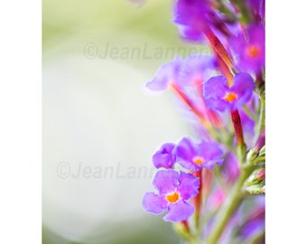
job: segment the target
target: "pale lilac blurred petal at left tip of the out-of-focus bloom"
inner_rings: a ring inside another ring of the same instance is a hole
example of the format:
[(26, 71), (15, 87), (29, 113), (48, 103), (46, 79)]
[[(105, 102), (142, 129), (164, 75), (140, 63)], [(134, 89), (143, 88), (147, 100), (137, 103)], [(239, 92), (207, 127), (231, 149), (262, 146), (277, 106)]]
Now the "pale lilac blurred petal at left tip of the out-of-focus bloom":
[(172, 82), (178, 80), (181, 71), (181, 58), (176, 56), (172, 61), (165, 63), (157, 71), (153, 80), (146, 83), (146, 88), (163, 91), (169, 87)]

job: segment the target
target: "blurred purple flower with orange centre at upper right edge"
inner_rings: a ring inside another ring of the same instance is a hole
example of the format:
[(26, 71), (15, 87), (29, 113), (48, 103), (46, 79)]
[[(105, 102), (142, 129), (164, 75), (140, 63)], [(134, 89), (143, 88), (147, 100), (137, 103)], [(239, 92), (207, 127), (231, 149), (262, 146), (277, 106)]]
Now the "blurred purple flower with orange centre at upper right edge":
[(230, 45), (237, 55), (237, 68), (243, 72), (260, 73), (265, 68), (265, 27), (251, 25), (247, 37), (240, 33), (230, 39)]

